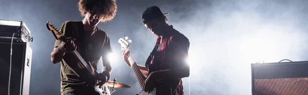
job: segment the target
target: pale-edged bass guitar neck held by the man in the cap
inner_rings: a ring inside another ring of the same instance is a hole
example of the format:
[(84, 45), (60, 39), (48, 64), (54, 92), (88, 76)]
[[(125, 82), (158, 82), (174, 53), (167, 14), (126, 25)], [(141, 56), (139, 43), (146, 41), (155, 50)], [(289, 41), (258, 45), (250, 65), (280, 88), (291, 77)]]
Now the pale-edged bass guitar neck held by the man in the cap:
[(138, 80), (138, 82), (139, 82), (139, 85), (140, 85), (141, 87), (143, 87), (144, 81), (145, 81), (145, 76), (143, 76), (143, 74), (141, 73), (141, 71), (140, 71), (140, 69), (139, 69), (137, 63), (134, 61), (134, 59), (132, 58), (132, 56), (130, 55), (130, 53), (128, 54), (128, 61), (129, 61), (129, 63), (132, 63), (132, 64), (131, 64), (131, 68), (132, 68), (134, 74), (135, 74), (136, 77), (137, 77), (137, 80)]

